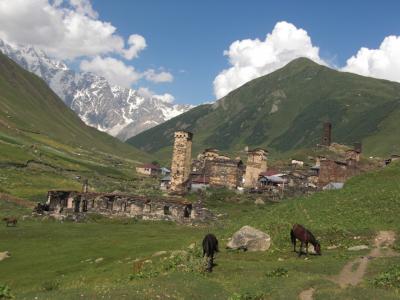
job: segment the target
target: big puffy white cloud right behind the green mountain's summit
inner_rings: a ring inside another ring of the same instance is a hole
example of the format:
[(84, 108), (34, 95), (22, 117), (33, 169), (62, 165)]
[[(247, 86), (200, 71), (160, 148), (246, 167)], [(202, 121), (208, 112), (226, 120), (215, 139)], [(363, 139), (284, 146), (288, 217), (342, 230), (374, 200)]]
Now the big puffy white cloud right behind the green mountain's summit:
[(308, 33), (288, 22), (278, 22), (265, 40), (245, 39), (233, 42), (224, 51), (231, 67), (214, 79), (214, 93), (223, 97), (244, 83), (271, 73), (291, 60), (308, 57), (325, 64), (319, 57), (319, 48), (311, 43)]

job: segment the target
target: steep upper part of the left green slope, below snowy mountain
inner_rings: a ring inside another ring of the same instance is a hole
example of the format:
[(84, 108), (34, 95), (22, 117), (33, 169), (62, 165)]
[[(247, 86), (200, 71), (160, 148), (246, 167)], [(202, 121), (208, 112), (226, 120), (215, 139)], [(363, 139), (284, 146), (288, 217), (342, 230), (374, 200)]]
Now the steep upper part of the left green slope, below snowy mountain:
[(86, 126), (36, 75), (0, 53), (0, 124), (37, 132), (71, 146), (125, 157), (143, 156), (133, 147)]

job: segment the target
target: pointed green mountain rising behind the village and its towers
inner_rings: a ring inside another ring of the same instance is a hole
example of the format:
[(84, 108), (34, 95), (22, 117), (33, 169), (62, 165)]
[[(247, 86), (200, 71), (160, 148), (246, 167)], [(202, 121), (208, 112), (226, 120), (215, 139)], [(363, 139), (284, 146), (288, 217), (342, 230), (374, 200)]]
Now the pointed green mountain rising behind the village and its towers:
[(128, 142), (164, 154), (172, 133), (186, 129), (195, 134), (195, 151), (261, 146), (286, 152), (318, 143), (322, 123), (330, 121), (335, 142), (362, 141), (367, 153), (384, 155), (400, 149), (399, 114), (400, 84), (299, 58)]

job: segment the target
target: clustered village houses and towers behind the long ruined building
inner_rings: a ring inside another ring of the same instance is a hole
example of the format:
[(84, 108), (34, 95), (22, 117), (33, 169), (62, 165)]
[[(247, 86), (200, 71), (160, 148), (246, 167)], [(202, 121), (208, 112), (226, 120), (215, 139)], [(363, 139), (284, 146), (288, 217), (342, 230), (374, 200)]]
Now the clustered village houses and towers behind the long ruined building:
[[(210, 187), (281, 197), (293, 192), (340, 189), (347, 179), (368, 168), (361, 162), (361, 143), (354, 143), (353, 148), (332, 143), (331, 123), (324, 124), (321, 144), (316, 145), (327, 150), (328, 155), (309, 156), (308, 161), (293, 158), (280, 168), (269, 166), (268, 150), (261, 148), (245, 149), (245, 162), (240, 157), (222, 155), (214, 148), (205, 149), (192, 159), (193, 134), (177, 131), (174, 137), (171, 169), (145, 164), (136, 171), (145, 176), (161, 176), (160, 189), (175, 195)], [(335, 155), (329, 155), (329, 151)], [(393, 155), (387, 162), (396, 158)]]

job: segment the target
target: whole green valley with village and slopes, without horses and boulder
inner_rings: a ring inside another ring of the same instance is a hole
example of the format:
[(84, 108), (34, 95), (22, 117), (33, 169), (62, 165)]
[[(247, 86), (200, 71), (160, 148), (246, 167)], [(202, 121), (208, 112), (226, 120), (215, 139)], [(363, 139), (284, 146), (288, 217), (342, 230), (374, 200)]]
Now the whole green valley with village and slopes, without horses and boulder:
[(0, 299), (397, 299), (399, 91), (299, 58), (123, 143), (0, 54)]

